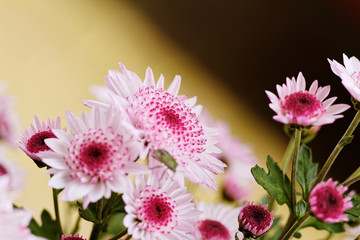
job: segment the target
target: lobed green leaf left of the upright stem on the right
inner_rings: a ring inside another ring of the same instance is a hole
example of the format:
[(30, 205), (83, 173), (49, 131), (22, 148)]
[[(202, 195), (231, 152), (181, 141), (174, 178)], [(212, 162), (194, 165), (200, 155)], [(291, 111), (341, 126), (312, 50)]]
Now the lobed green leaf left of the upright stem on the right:
[(260, 184), (279, 205), (286, 203), (290, 208), (290, 180), (280, 169), (279, 165), (268, 156), (266, 166), (269, 173), (258, 165), (251, 169), (256, 182)]

